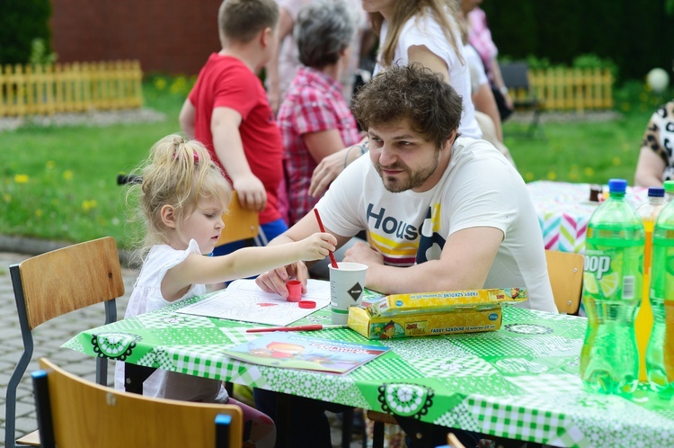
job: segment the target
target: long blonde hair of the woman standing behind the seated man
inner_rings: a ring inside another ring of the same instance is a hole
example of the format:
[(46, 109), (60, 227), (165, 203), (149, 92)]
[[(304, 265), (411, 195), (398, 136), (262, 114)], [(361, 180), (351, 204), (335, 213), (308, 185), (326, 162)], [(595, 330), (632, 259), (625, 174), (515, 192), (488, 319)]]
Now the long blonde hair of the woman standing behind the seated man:
[[(456, 25), (456, 20), (452, 20), (452, 18), (456, 18), (457, 14), (460, 13), (454, 0), (399, 0), (395, 2), (393, 17), (391, 18), (391, 22), (388, 23), (386, 40), (382, 42), (382, 60), (380, 61), (382, 65), (390, 67), (394, 62), (395, 47), (398, 44), (398, 39), (400, 39), (400, 33), (403, 31), (404, 24), (412, 19), (412, 17), (416, 17), (417, 20), (425, 17), (429, 9), (433, 18), (439, 23), (440, 28), (442, 28), (445, 38), (454, 51), (456, 51), (457, 57), (462, 64), (464, 63), (459, 49), (459, 45), (463, 46), (463, 43), (457, 42), (452, 32), (453, 26)], [(372, 29), (377, 35), (380, 35), (384, 16), (381, 13), (370, 13), (369, 16)]]

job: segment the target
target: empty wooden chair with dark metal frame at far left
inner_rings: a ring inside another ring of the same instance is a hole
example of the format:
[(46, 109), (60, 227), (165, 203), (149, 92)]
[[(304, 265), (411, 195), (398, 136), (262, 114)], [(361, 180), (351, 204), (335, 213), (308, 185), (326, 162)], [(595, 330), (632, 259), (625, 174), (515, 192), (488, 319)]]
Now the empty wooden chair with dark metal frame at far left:
[[(23, 353), (7, 385), (5, 448), (40, 445), (37, 432), (15, 437), (16, 389), (31, 362), (32, 330), (52, 318), (104, 303), (105, 323), (117, 320), (115, 299), (124, 295), (120, 258), (112, 237), (94, 239), (33, 256), (9, 267), (19, 314)], [(96, 382), (107, 384), (108, 362), (96, 359)]]

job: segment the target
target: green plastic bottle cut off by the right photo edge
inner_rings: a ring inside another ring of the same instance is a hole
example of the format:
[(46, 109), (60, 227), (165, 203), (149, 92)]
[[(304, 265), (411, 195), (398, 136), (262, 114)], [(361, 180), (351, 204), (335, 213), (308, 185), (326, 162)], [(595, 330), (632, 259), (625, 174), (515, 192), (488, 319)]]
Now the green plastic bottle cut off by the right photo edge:
[(650, 299), (653, 327), (646, 371), (651, 389), (670, 399), (674, 397), (674, 202), (655, 221)]

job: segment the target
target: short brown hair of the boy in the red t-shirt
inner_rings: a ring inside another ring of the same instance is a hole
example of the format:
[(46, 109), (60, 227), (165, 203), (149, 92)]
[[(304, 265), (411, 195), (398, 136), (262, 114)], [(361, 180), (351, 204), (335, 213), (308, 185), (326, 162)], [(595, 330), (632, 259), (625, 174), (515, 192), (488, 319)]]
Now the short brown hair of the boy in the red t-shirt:
[(274, 0), (224, 0), (217, 13), (221, 38), (248, 42), (265, 28), (276, 28), (279, 5)]

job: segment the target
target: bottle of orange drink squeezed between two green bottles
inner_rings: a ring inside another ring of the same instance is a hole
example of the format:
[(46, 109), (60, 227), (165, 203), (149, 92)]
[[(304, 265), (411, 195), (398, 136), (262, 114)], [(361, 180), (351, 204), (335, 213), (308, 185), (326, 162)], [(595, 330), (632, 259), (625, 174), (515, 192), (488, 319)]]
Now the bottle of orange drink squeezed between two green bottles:
[(653, 327), (653, 313), (651, 302), (648, 300), (649, 291), (651, 291), (651, 252), (652, 237), (655, 220), (660, 211), (665, 206), (665, 190), (661, 187), (651, 187), (648, 189), (648, 202), (637, 209), (639, 216), (643, 220), (643, 229), (645, 231), (645, 243), (643, 244), (643, 287), (642, 287), (642, 305), (634, 319), (634, 333), (636, 334), (636, 346), (639, 348), (639, 381), (648, 381), (646, 374), (646, 347), (651, 337)]

